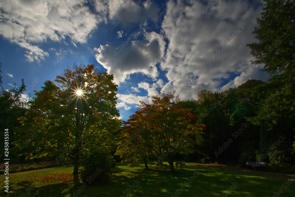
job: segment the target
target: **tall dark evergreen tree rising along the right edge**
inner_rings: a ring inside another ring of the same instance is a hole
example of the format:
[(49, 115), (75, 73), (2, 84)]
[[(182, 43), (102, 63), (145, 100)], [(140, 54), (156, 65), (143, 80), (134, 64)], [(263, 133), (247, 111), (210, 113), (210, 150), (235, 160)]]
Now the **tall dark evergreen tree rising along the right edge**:
[[(249, 117), (260, 130), (260, 153), (265, 153), (279, 135), (284, 135), (283, 150), (290, 158), (294, 142), (295, 120), (295, 1), (265, 0), (259, 27), (253, 34), (259, 43), (248, 44), (255, 57), (251, 64), (264, 64), (263, 70), (271, 75), (264, 85), (264, 97), (258, 101), (255, 117)], [(282, 149), (283, 148), (283, 149)], [(294, 158), (294, 153), (293, 153)], [(291, 161), (291, 160), (290, 160)], [(294, 163), (294, 159), (292, 161)]]

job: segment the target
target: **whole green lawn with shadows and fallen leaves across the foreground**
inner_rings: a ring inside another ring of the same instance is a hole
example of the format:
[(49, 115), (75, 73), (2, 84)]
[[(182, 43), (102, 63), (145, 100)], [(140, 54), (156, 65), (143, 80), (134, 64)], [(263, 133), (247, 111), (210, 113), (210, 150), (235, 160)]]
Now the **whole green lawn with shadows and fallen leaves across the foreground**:
[[(125, 197), (127, 192), (123, 192), (127, 189), (130, 191), (128, 195), (130, 197), (272, 197), (274, 192), (279, 192), (280, 189), (281, 196), (295, 196), (295, 184), (289, 181), (289, 183), (287, 182), (288, 186), (285, 183), (287, 180), (249, 176), (200, 166), (186, 166), (183, 169), (176, 169), (174, 173), (171, 173), (169, 169), (156, 169), (155, 166), (150, 165), (149, 167), (150, 170), (146, 171), (144, 165), (130, 167), (127, 164), (120, 164), (119, 170), (116, 170), (117, 173), (112, 176), (111, 183), (101, 186), (87, 186), (86, 188), (80, 186), (83, 191), (81, 193), (78, 191), (78, 195), (73, 195), (73, 192), (78, 190), (78, 186), (74, 186), (72, 181), (73, 166), (38, 173), (11, 174), (9, 175), (8, 194), (4, 192), (3, 187), (5, 178), (0, 178), (0, 196)], [(194, 176), (196, 178), (191, 178)], [(188, 178), (189, 181), (187, 181)], [(140, 183), (135, 183), (137, 180)], [(282, 186), (283, 184), (284, 186)], [(229, 191), (231, 188), (233, 190)], [(177, 195), (176, 190), (181, 193)]]

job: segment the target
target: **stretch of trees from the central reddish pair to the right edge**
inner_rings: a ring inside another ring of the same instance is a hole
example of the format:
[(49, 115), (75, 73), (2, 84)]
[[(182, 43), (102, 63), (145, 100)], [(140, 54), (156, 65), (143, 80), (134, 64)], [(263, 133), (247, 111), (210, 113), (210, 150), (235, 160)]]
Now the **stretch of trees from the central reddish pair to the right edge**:
[[(273, 84), (248, 80), (224, 92), (202, 90), (180, 101), (160, 92), (124, 123), (117, 155), (126, 162), (266, 162), (271, 170), (294, 170), (294, 77)], [(289, 98), (289, 105), (286, 105)]]

